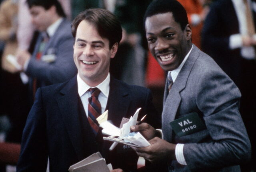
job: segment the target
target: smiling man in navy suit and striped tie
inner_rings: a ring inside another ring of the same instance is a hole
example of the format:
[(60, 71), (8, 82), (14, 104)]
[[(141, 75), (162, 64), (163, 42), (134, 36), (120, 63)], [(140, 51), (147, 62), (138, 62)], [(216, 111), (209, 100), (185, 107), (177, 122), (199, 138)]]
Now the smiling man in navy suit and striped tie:
[(72, 34), (78, 75), (38, 89), (23, 131), (17, 171), (45, 172), (49, 157), (51, 172), (67, 172), (70, 165), (97, 151), (113, 168), (134, 171), (136, 152), (121, 144), (109, 151), (112, 142), (102, 140), (101, 130), (90, 115), (89, 90), (98, 88), (95, 104), (101, 108), (97, 106), (95, 111), (108, 109), (108, 120), (117, 127), (123, 117), (130, 118), (138, 108), (142, 108), (138, 119), (148, 114), (149, 123), (160, 124), (148, 89), (130, 86), (109, 74), (110, 59), (122, 38), (120, 23), (107, 10), (89, 9), (74, 19)]

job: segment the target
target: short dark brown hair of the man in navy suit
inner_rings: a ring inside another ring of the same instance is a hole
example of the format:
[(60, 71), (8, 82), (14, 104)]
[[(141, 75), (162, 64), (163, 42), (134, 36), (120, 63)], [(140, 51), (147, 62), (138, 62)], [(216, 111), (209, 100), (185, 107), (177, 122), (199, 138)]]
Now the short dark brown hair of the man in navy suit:
[(92, 8), (81, 12), (72, 22), (72, 35), (76, 38), (76, 30), (80, 22), (86, 20), (94, 25), (102, 38), (109, 41), (109, 48), (122, 39), (122, 27), (116, 16), (101, 8)]

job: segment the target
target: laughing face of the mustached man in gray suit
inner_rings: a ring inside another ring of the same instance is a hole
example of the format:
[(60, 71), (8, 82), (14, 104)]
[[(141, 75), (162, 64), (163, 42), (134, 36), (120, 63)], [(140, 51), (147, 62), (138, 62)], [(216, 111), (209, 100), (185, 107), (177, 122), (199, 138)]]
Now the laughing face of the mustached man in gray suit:
[(146, 18), (145, 29), (148, 48), (160, 66), (166, 71), (178, 68), (192, 46), (190, 26), (182, 30), (167, 12)]

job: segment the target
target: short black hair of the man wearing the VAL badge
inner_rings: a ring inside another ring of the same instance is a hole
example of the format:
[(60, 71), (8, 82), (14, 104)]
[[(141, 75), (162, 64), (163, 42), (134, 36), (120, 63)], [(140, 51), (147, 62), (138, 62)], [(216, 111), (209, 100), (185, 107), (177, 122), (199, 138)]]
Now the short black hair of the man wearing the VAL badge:
[(182, 30), (188, 24), (188, 16), (185, 8), (177, 0), (154, 0), (151, 2), (144, 15), (144, 26), (146, 18), (156, 14), (171, 12), (175, 22), (180, 23)]

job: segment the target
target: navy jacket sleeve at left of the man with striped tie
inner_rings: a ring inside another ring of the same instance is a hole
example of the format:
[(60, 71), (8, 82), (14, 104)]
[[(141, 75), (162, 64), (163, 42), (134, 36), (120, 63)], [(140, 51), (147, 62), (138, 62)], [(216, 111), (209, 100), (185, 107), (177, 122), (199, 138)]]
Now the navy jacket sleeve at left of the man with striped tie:
[(41, 88), (39, 88), (23, 130), (17, 172), (46, 172), (48, 159), (46, 145), (46, 115), (42, 106)]

